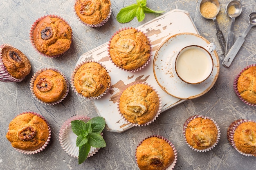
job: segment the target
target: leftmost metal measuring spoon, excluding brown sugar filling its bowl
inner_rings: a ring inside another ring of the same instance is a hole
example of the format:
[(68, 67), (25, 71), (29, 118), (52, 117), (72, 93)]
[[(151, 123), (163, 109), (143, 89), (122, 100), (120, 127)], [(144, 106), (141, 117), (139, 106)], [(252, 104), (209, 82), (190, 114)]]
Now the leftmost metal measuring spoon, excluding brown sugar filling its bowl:
[[(202, 4), (204, 4), (204, 2), (211, 2), (211, 3), (216, 5), (217, 12), (216, 12), (216, 14), (213, 17), (207, 18), (207, 16), (202, 15), (201, 7), (202, 7)], [(220, 2), (218, 0), (202, 0), (201, 3), (200, 3), (200, 10), (199, 11), (200, 11), (200, 14), (202, 15), (203, 18), (205, 18), (205, 19), (212, 19), (213, 20), (213, 22), (214, 22), (214, 24), (216, 26), (216, 30), (217, 30), (216, 35), (217, 35), (217, 38), (218, 38), (218, 40), (220, 42), (221, 50), (222, 50), (222, 53), (223, 53), (222, 56), (224, 56), (224, 54), (226, 53), (226, 50), (225, 50), (226, 42), (225, 42), (225, 38), (223, 36), (223, 33), (220, 31), (219, 25), (218, 25), (217, 20), (216, 20), (216, 16), (218, 15), (218, 13), (220, 11)]]

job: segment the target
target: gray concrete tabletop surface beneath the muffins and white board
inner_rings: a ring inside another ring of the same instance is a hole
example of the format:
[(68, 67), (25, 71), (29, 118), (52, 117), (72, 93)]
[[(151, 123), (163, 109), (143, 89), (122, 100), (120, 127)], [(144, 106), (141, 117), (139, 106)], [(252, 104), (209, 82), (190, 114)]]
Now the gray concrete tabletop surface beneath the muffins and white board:
[[(122, 133), (103, 131), (106, 148), (101, 148), (93, 157), (78, 165), (76, 158), (70, 157), (59, 144), (58, 133), (65, 120), (74, 115), (97, 116), (91, 101), (82, 100), (72, 90), (67, 98), (55, 106), (37, 102), (30, 93), (31, 76), (40, 68), (54, 67), (70, 79), (79, 57), (110, 40), (118, 29), (137, 27), (153, 18), (146, 14), (142, 22), (135, 18), (129, 23), (120, 24), (115, 17), (119, 10), (135, 0), (111, 0), (110, 20), (99, 28), (83, 25), (74, 14), (74, 0), (1, 0), (0, 1), (0, 44), (8, 43), (20, 49), (31, 61), (31, 73), (20, 83), (0, 82), (0, 169), (1, 170), (136, 170), (135, 149), (147, 136), (162, 135), (168, 138), (177, 149), (175, 170), (253, 170), (256, 157), (240, 155), (227, 141), (227, 127), (236, 119), (256, 120), (256, 107), (247, 106), (234, 93), (235, 76), (247, 65), (256, 63), (256, 28), (252, 28), (245, 38), (234, 62), (229, 68), (220, 64), (220, 74), (216, 84), (205, 95), (191, 99), (161, 113), (149, 126), (133, 127)], [(229, 1), (220, 0), (221, 9), (217, 17), (225, 38), (231, 19), (225, 8)], [(256, 11), (255, 0), (240, 0), (243, 12), (235, 21), (235, 40), (247, 27), (249, 13)], [(189, 11), (200, 34), (221, 48), (216, 37), (212, 20), (200, 16), (200, 0), (148, 0), (148, 7), (170, 11)], [(54, 14), (64, 18), (73, 29), (71, 49), (64, 55), (49, 59), (39, 55), (31, 46), (29, 30), (35, 20), (43, 15)], [(45, 150), (36, 155), (24, 155), (14, 150), (5, 138), (9, 122), (24, 111), (34, 111), (43, 115), (52, 128), (52, 138)], [(209, 152), (195, 152), (186, 146), (182, 136), (184, 121), (191, 115), (200, 114), (212, 117), (220, 126), (221, 137), (218, 145)]]

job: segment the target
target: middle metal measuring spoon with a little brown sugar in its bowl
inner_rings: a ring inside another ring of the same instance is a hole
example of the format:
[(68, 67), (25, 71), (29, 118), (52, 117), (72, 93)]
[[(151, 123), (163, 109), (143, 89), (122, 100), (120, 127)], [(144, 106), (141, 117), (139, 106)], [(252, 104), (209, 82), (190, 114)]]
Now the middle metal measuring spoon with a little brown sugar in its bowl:
[[(234, 11), (235, 10), (235, 11)], [(238, 0), (232, 0), (227, 4), (226, 13), (231, 18), (230, 31), (227, 35), (226, 55), (234, 44), (234, 22), (235, 18), (242, 13), (242, 4)]]

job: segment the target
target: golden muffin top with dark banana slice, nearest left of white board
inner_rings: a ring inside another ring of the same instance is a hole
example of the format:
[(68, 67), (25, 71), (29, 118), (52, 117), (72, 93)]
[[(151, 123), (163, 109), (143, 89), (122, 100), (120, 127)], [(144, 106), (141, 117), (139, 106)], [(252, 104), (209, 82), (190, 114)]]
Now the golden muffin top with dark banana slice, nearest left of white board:
[(34, 81), (35, 96), (46, 103), (57, 102), (67, 91), (65, 78), (53, 70), (42, 71)]

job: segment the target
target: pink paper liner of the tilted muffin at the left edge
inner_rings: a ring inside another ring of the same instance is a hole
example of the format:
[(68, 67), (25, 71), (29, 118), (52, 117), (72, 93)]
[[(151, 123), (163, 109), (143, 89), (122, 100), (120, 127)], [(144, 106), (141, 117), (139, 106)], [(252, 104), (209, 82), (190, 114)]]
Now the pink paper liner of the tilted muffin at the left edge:
[(10, 75), (2, 61), (2, 49), (6, 46), (15, 48), (10, 44), (2, 44), (0, 46), (0, 82), (21, 82), (23, 79), (25, 79), (25, 77), (23, 79), (16, 79), (12, 75)]

